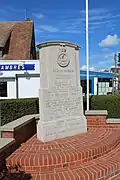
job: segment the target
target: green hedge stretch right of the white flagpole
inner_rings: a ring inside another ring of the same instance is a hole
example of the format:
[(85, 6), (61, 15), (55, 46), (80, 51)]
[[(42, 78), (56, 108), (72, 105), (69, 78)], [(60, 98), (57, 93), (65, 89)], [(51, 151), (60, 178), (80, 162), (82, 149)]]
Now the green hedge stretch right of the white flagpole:
[(93, 96), (91, 109), (107, 110), (108, 117), (120, 118), (120, 95)]

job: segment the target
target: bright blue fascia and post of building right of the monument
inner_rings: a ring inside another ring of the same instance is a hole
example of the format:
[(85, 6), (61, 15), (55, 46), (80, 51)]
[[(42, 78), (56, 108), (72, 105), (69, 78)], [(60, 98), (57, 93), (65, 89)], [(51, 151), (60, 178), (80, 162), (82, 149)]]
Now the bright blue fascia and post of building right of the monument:
[[(95, 71), (89, 71), (89, 80), (91, 80), (92, 83), (92, 94), (94, 94), (94, 78), (105, 78), (105, 79), (112, 79), (113, 73), (111, 72), (95, 72)], [(80, 80), (86, 80), (87, 79), (87, 72), (84, 70), (80, 70)]]

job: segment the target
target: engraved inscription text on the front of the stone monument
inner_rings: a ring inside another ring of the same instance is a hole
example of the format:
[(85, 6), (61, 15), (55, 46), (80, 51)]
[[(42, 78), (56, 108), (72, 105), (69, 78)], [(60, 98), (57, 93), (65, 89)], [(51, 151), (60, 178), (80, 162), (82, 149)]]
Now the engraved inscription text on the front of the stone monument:
[(54, 69), (53, 72), (55, 81), (44, 95), (47, 96), (44, 114), (53, 121), (80, 116), (82, 99), (80, 89), (72, 85), (74, 70), (68, 69), (67, 73), (61, 73), (59, 69)]

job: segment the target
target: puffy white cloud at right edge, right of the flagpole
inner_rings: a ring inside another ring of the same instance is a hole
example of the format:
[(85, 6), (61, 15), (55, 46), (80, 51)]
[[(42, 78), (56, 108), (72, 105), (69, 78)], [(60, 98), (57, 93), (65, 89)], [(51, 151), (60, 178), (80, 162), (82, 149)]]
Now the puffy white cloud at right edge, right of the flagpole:
[(108, 35), (105, 39), (103, 39), (99, 46), (101, 47), (110, 47), (110, 46), (116, 46), (120, 43), (120, 39), (116, 34), (114, 35)]

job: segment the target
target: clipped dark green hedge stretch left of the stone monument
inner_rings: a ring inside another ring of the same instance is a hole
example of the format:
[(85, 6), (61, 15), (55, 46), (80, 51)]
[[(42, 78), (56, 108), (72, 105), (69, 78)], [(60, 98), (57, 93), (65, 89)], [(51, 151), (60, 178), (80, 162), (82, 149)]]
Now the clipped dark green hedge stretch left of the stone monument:
[(1, 124), (4, 125), (24, 115), (37, 114), (38, 103), (37, 98), (1, 100)]

